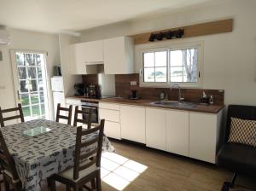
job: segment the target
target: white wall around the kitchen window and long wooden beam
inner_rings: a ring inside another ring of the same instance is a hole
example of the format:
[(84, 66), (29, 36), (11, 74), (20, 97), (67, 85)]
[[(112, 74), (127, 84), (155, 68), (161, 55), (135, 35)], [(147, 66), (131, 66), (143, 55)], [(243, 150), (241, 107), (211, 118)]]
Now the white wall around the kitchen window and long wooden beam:
[[(172, 43), (204, 44), (203, 84), (205, 89), (225, 90), (225, 104), (256, 105), (256, 1), (225, 0), (201, 8), (165, 14), (150, 20), (131, 20), (82, 32), (81, 41), (113, 38), (210, 20), (234, 18), (234, 31), (172, 40)], [(171, 41), (170, 41), (171, 42)], [(135, 63), (137, 72), (141, 63)]]

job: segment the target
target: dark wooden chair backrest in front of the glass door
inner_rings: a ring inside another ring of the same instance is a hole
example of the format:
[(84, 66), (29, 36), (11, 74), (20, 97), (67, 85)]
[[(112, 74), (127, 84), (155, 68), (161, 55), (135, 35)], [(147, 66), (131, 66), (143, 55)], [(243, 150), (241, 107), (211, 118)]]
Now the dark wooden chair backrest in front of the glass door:
[[(4, 118), (3, 117), (3, 113), (12, 113), (12, 112), (17, 112), (19, 111), (18, 115), (14, 115), (14, 116), (9, 116)], [(9, 120), (13, 120), (13, 119), (20, 119), (21, 122), (24, 122), (24, 115), (23, 115), (23, 111), (22, 111), (22, 107), (21, 104), (18, 104), (18, 107), (15, 108), (9, 108), (9, 109), (2, 109), (0, 107), (0, 124), (1, 127), (4, 127), (4, 121), (9, 121)]]

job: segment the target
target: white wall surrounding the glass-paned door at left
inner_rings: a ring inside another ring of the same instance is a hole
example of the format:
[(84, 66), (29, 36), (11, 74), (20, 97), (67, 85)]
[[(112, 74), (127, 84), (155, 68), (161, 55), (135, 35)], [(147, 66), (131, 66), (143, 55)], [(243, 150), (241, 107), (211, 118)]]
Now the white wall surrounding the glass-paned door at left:
[(15, 87), (13, 81), (12, 63), (10, 61), (11, 49), (40, 50), (48, 52), (46, 57), (49, 88), (49, 107), (52, 116), (52, 94), (50, 91), (49, 78), (53, 74), (53, 66), (60, 65), (60, 52), (58, 36), (54, 34), (28, 32), (10, 29), (11, 43), (0, 45), (3, 51), (3, 61), (0, 61), (0, 106), (2, 108), (15, 107)]

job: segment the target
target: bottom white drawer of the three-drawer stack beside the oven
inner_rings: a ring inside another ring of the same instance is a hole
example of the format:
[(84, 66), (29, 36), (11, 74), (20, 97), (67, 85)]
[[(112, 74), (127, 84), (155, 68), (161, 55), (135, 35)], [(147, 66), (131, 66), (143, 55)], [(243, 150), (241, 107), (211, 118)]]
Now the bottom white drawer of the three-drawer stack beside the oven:
[(105, 121), (104, 133), (106, 136), (121, 139), (121, 126), (119, 123), (112, 121)]

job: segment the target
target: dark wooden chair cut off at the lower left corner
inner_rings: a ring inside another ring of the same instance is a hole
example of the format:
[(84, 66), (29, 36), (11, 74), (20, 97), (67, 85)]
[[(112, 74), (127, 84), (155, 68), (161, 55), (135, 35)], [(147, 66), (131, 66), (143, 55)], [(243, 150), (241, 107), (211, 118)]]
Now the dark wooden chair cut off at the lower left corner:
[(10, 190), (9, 184), (13, 185), (16, 191), (22, 190), (22, 183), (16, 171), (15, 161), (9, 153), (9, 150), (4, 141), (1, 130), (0, 130), (0, 149), (1, 149), (0, 160), (1, 160), (5, 190)]

